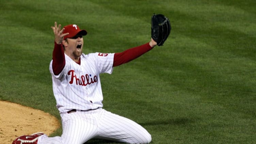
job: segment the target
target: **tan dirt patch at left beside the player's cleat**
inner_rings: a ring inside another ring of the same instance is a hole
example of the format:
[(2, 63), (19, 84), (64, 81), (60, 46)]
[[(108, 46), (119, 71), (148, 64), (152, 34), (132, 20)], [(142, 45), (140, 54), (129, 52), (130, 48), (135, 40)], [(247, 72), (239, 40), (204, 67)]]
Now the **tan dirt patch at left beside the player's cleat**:
[(43, 132), (47, 135), (60, 127), (49, 113), (16, 103), (0, 101), (0, 143), (10, 144), (20, 135)]

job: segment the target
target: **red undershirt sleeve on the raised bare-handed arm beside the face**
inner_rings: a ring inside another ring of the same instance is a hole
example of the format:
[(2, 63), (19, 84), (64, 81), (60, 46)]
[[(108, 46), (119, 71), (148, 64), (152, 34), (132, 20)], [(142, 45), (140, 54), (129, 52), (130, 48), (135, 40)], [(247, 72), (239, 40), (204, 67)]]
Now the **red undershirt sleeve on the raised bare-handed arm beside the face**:
[(62, 44), (54, 42), (52, 52), (52, 70), (54, 75), (59, 75), (65, 66), (65, 54)]

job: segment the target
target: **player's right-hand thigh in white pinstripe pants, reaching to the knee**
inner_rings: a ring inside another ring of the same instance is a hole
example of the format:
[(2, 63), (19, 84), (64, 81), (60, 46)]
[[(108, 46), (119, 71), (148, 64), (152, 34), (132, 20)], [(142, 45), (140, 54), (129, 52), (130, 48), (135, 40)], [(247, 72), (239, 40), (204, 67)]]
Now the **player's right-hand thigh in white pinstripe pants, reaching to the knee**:
[(131, 119), (106, 110), (100, 116), (99, 136), (101, 139), (125, 143), (149, 143), (151, 135)]

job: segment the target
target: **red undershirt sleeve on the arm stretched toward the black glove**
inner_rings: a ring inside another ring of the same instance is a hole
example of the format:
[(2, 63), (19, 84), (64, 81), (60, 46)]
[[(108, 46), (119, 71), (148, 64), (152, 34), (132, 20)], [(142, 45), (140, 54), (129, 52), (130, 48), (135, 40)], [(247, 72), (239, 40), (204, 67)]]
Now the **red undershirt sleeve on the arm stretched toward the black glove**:
[(127, 49), (123, 52), (115, 53), (113, 67), (128, 63), (151, 49), (153, 48), (149, 45), (149, 43), (146, 43), (138, 47)]

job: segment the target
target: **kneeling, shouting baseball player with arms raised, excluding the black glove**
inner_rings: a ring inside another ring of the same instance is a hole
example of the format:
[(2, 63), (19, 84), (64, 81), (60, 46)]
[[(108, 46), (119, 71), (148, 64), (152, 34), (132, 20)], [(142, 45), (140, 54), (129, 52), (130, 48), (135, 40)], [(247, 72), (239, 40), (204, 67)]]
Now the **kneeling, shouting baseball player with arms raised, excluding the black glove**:
[(129, 144), (148, 144), (151, 135), (134, 121), (103, 109), (100, 74), (127, 63), (151, 50), (157, 42), (120, 53), (84, 54), (83, 37), (77, 25), (51, 27), (55, 35), (50, 73), (53, 94), (62, 118), (61, 137), (39, 132), (16, 138), (13, 144), (83, 144), (90, 139), (106, 139)]

